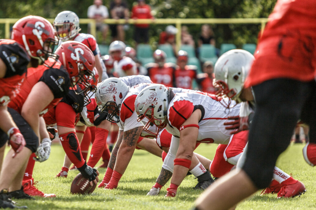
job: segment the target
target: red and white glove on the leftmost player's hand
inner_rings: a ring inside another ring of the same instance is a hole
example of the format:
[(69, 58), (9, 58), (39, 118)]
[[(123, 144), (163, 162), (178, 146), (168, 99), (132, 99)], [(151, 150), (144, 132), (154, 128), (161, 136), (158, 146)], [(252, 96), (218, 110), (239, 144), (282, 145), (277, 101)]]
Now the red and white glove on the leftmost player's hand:
[(12, 157), (15, 157), (16, 154), (19, 153), (26, 145), (26, 142), (19, 128), (10, 128), (8, 131), (8, 136), (9, 145), (11, 145), (12, 149), (15, 151)]

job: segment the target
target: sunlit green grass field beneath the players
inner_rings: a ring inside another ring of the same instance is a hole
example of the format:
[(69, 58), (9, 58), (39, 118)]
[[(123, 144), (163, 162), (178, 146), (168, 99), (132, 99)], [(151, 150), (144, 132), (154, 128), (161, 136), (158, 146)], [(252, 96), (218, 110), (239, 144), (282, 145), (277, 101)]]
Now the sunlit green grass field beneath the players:
[[(217, 145), (200, 145), (196, 152), (212, 159)], [(241, 202), (236, 209), (316, 209), (316, 167), (310, 167), (304, 161), (304, 145), (291, 145), (280, 156), (277, 166), (295, 179), (305, 184), (307, 192), (301, 197), (276, 199), (276, 195), (259, 196), (258, 191), (252, 197)], [(94, 190), (91, 195), (71, 195), (70, 185), (78, 171), (70, 171), (68, 178), (55, 178), (64, 160), (61, 145), (52, 145), (50, 158), (42, 163), (36, 162), (33, 177), (38, 188), (45, 193), (55, 193), (56, 198), (36, 198), (35, 201), (17, 200), (19, 205), (29, 209), (191, 209), (201, 191), (193, 190), (197, 180), (187, 176), (178, 189), (177, 196), (165, 198), (167, 186), (159, 196), (146, 196), (161, 170), (160, 158), (143, 150), (136, 150), (129, 167), (115, 190)], [(106, 169), (99, 169), (102, 180)], [(169, 185), (170, 182), (167, 183)]]

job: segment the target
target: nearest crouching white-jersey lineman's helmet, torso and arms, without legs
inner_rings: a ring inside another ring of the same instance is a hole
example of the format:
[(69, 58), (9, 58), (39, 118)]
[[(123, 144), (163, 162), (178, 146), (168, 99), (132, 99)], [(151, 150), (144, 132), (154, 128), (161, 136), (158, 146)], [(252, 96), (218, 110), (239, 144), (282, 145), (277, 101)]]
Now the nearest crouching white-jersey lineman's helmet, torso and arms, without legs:
[(197, 143), (228, 144), (231, 135), (223, 123), (228, 121), (228, 116), (239, 113), (240, 105), (228, 111), (221, 105), (222, 100), (227, 102), (227, 99), (203, 92), (175, 94), (172, 89), (157, 84), (144, 88), (137, 95), (135, 111), (138, 121), (144, 123), (144, 130), (156, 126), (158, 131), (165, 128), (173, 135), (165, 167), (160, 173), (163, 176), (164, 168), (174, 165), (166, 196), (176, 195), (190, 169)]

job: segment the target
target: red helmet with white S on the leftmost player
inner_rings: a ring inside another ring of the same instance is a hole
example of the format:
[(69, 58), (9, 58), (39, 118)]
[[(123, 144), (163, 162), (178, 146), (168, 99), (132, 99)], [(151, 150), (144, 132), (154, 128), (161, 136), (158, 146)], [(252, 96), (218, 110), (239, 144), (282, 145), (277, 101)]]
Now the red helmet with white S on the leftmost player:
[(11, 38), (24, 46), (31, 58), (40, 60), (40, 64), (50, 68), (52, 65), (46, 64), (45, 60), (48, 57), (58, 60), (58, 56), (52, 53), (54, 46), (58, 45), (54, 35), (54, 28), (48, 20), (29, 15), (13, 25)]

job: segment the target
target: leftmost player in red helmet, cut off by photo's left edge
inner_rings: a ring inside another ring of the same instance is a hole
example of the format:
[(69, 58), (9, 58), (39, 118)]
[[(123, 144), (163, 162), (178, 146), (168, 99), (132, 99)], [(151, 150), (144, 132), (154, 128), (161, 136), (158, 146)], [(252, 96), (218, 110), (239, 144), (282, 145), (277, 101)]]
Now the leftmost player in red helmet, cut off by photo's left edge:
[[(0, 182), (0, 206), (3, 208), (15, 207), (6, 199), (8, 196), (11, 197), (8, 190), (14, 191), (21, 188), (23, 172), (20, 173), (20, 170), (24, 168), (25, 160), (31, 151), (36, 150), (36, 147), (32, 145), (32, 140), (28, 138), (32, 132), (23, 125), (25, 120), (7, 106), (10, 99), (21, 91), (27, 67), (36, 67), (43, 63), (51, 65), (47, 62), (48, 57), (56, 62), (58, 57), (52, 54), (52, 49), (50, 49), (55, 44), (51, 24), (39, 16), (21, 18), (13, 26), (12, 40), (0, 40), (0, 165), (2, 165), (3, 151), (8, 139), (12, 147), (4, 160), (4, 172), (0, 174), (0, 177), (7, 178), (7, 174), (10, 174), (9, 180), (1, 178)], [(18, 153), (21, 154), (17, 155)], [(16, 183), (15, 186), (9, 189), (13, 182)]]

